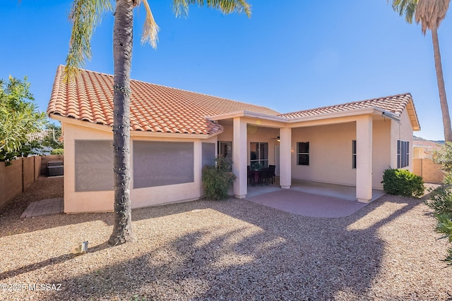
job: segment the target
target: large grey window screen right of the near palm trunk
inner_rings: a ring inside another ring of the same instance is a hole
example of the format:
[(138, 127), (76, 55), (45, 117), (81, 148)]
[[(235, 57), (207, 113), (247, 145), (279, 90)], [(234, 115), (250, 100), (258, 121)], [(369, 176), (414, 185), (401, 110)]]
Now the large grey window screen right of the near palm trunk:
[(191, 182), (194, 142), (133, 142), (133, 188)]

